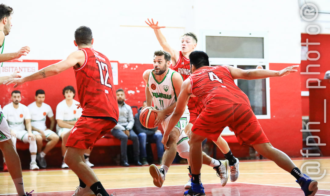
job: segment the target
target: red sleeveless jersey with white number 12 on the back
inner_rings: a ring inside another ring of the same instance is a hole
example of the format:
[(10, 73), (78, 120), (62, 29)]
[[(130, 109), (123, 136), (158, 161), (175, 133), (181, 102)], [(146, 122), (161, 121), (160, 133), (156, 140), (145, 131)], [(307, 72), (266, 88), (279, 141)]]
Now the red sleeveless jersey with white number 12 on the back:
[(109, 59), (91, 48), (80, 50), (86, 58), (84, 64), (75, 69), (82, 115), (112, 117), (118, 121), (118, 103)]

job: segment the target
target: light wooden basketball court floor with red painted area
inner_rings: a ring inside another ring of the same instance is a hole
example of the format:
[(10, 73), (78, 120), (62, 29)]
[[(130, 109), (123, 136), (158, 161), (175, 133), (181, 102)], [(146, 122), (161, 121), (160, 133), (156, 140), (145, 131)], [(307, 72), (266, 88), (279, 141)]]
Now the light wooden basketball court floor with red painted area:
[[(310, 170), (309, 173), (324, 173), (317, 180), (316, 195), (330, 196), (330, 158), (296, 159), (298, 168), (303, 163), (314, 161), (320, 164), (320, 171)], [(109, 167), (94, 168), (94, 172), (109, 193), (120, 195), (183, 195), (183, 185), (188, 180), (187, 165), (172, 165), (166, 175), (162, 188), (155, 187), (149, 174), (149, 166), (142, 167)], [(305, 167), (306, 168), (306, 167)], [(267, 160), (240, 161), (240, 176), (236, 182), (222, 187), (220, 179), (213, 168), (203, 165), (201, 180), (207, 195), (226, 196), (264, 196), (264, 195), (304, 195), (295, 179), (274, 162)], [(306, 173), (306, 169), (304, 170)], [(319, 177), (321, 175), (309, 175)], [(77, 176), (69, 169), (23, 171), (26, 191), (34, 190), (33, 196), (72, 195), (79, 184)], [(0, 172), (0, 195), (17, 195), (13, 181), (8, 172)]]

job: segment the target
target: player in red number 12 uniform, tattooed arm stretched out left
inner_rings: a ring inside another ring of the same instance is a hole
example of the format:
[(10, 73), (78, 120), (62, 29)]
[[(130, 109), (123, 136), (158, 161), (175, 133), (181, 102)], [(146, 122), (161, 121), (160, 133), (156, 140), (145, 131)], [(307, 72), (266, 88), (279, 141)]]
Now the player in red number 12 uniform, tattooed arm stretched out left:
[(93, 170), (84, 163), (83, 156), (85, 150), (91, 149), (118, 121), (118, 104), (111, 64), (104, 54), (92, 49), (93, 42), (91, 29), (81, 26), (75, 31), (74, 44), (78, 50), (66, 59), (19, 80), (9, 79), (5, 82), (7, 85), (13, 83), (16, 87), (74, 68), (82, 116), (70, 132), (64, 157), (64, 162), (79, 177), (80, 184), (74, 196), (109, 196)]

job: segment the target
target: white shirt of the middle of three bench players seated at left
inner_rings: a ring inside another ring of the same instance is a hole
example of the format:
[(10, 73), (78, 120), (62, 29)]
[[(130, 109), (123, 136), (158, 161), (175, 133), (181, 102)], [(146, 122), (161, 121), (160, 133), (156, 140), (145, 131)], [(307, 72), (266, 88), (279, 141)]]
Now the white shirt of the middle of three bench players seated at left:
[(50, 118), (54, 116), (48, 104), (42, 103), (41, 107), (38, 107), (36, 102), (27, 106), (31, 114), (31, 125), (37, 129), (46, 130), (46, 115)]

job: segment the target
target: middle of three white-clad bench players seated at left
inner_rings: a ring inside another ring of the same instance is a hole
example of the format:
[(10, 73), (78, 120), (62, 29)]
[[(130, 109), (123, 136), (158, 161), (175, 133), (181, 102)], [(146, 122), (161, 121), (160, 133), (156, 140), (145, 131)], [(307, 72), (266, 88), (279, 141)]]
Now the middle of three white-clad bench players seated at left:
[[(47, 163), (45, 156), (53, 147), (55, 147), (60, 138), (55, 132), (52, 131), (55, 125), (55, 118), (51, 107), (48, 104), (44, 103), (45, 91), (42, 89), (37, 90), (35, 99), (36, 101), (31, 103), (27, 107), (29, 108), (31, 114), (32, 130), (38, 131), (42, 136), (42, 140), (40, 142), (37, 141), (37, 161), (40, 167), (46, 168)], [(49, 129), (46, 126), (46, 115), (49, 117), (50, 120)], [(41, 151), (43, 146), (42, 141), (47, 141), (47, 144), (43, 151)]]

